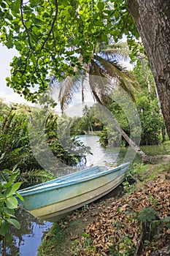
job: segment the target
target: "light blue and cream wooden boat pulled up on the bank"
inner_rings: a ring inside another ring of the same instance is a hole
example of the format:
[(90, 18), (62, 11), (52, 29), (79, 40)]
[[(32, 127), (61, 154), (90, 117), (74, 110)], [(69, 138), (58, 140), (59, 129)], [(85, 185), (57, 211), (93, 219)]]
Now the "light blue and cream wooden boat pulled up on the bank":
[(57, 222), (77, 208), (115, 189), (125, 178), (130, 163), (118, 167), (90, 167), (52, 181), (21, 189), (19, 205), (35, 217)]

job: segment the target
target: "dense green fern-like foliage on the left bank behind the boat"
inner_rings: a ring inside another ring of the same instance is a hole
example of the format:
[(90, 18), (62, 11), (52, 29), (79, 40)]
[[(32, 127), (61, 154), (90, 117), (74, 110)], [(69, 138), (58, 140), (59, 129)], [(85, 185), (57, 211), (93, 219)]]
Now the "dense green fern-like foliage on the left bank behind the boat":
[(44, 110), (32, 112), (32, 116), (36, 115), (36, 121), (41, 123), (42, 128), (45, 129), (44, 141), (42, 132), (38, 134), (36, 130), (29, 131), (30, 113), (28, 109), (22, 113), (20, 108), (16, 106), (8, 107), (3, 102), (1, 102), (1, 109), (0, 170), (5, 168), (12, 170), (14, 166), (17, 166), (20, 169), (20, 181), (33, 182), (39, 181), (39, 179), (46, 181), (47, 179), (54, 178), (53, 173), (42, 170), (42, 166), (37, 162), (37, 158), (35, 158), (36, 156), (31, 148), (30, 134), (34, 134), (34, 138), (39, 138), (39, 145), (36, 145), (37, 154), (44, 150), (43, 143), (47, 143), (54, 157), (57, 157), (59, 161), (66, 165), (76, 165), (81, 158), (80, 151), (87, 149), (83, 148), (82, 144), (75, 138), (72, 138), (72, 151), (70, 151), (69, 147), (66, 148), (66, 145), (63, 147), (61, 140), (58, 140), (57, 134), (58, 116), (52, 113), (48, 113), (45, 116)]

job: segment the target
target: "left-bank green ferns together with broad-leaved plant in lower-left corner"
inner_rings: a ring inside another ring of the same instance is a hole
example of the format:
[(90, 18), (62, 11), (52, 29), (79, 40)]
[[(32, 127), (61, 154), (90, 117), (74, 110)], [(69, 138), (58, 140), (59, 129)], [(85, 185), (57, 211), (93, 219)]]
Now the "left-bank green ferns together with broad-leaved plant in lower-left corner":
[[(45, 150), (43, 143), (49, 146), (55, 159), (58, 159), (56, 168), (61, 163), (67, 166), (76, 165), (82, 154), (89, 150), (75, 138), (72, 138), (72, 151), (70, 151), (69, 144), (67, 148), (63, 147), (57, 134), (58, 116), (53, 113), (47, 113), (45, 116), (45, 110), (31, 109), (28, 106), (16, 104), (9, 106), (2, 99), (0, 107), (0, 238), (5, 247), (5, 239), (9, 238), (9, 225), (20, 228), (20, 223), (15, 219), (18, 200), (13, 194), (18, 195), (17, 191), (20, 187), (28, 187), (31, 184), (48, 181), (56, 175), (62, 175), (62, 173), (54, 172), (54, 167), (50, 170), (50, 168), (43, 169), (40, 165), (36, 154), (41, 154)], [(31, 118), (36, 116), (34, 123), (36, 120), (38, 124), (44, 124), (41, 128), (45, 130), (45, 138), (42, 132), (38, 134), (39, 131), (36, 129), (29, 129), (31, 111)], [(37, 141), (34, 143), (37, 138), (38, 143)], [(61, 136), (61, 139), (64, 138)], [(36, 154), (32, 150), (33, 146)], [(20, 199), (22, 200), (21, 197)]]

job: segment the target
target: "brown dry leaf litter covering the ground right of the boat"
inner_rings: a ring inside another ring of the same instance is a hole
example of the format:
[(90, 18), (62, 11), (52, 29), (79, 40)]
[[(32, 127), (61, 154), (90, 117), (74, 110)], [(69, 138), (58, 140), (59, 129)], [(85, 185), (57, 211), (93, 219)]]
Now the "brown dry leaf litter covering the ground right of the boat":
[[(131, 195), (124, 195), (117, 200), (111, 197), (99, 203), (92, 203), (84, 211), (74, 211), (71, 216), (66, 218), (64, 225), (61, 222), (61, 227), (69, 227), (71, 222), (80, 218), (85, 222), (84, 233), (86, 236), (80, 236), (80, 234), (79, 236), (72, 236), (72, 234), (70, 236), (71, 240), (77, 239), (77, 237), (79, 239), (77, 241), (79, 252), (75, 255), (114, 255), (110, 250), (112, 246), (120, 255), (125, 255), (123, 253), (127, 249), (131, 252), (131, 249), (134, 248), (135, 252), (136, 246), (140, 242), (142, 230), (137, 216), (143, 208), (147, 207), (158, 211), (160, 219), (170, 216), (169, 172), (162, 173), (155, 180), (135, 189)], [(170, 228), (163, 227), (158, 241), (154, 246), (147, 244), (141, 255), (170, 255), (166, 248), (169, 244)], [(163, 254), (161, 254), (161, 250)]]

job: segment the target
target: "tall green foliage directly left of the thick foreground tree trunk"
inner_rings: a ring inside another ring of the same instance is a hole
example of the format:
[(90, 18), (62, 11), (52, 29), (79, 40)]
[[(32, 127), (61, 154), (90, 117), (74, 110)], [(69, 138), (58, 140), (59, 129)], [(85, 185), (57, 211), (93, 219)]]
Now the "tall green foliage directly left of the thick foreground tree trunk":
[(136, 108), (142, 126), (141, 144), (156, 145), (165, 140), (163, 135), (165, 124), (155, 83), (146, 60), (143, 60), (138, 67), (134, 68), (134, 75), (136, 75), (141, 86), (141, 91), (136, 94)]

